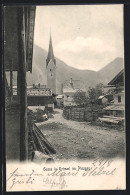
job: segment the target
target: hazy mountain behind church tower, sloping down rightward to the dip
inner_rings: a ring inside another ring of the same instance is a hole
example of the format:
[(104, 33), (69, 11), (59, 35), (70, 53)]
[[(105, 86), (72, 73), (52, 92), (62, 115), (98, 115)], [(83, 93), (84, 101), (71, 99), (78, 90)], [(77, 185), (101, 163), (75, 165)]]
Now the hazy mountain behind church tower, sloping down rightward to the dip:
[[(46, 84), (46, 57), (47, 51), (41, 49), (39, 46), (34, 45), (33, 57), (33, 70), (32, 74), (27, 73), (28, 85), (33, 83)], [(97, 77), (97, 73), (91, 70), (78, 70), (68, 66), (62, 60), (56, 58), (57, 68), (57, 92), (61, 93), (61, 84), (70, 78), (81, 80), (85, 83), (86, 88), (91, 84), (96, 84), (96, 80), (92, 78)]]

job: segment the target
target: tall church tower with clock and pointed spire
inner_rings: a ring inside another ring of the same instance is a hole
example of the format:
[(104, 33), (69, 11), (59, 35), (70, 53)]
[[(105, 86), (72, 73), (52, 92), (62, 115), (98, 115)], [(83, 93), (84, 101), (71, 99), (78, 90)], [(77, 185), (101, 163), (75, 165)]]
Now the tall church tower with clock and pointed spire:
[(52, 93), (56, 94), (56, 60), (53, 53), (51, 34), (50, 34), (49, 50), (46, 59), (46, 69), (47, 69), (47, 87), (52, 90)]

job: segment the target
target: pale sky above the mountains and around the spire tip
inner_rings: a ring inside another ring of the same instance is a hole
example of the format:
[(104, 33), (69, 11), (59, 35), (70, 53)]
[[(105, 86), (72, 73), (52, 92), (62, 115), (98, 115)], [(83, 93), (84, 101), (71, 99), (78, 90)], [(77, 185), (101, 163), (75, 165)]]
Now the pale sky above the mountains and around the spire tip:
[(34, 43), (77, 69), (98, 71), (124, 57), (123, 5), (37, 6)]

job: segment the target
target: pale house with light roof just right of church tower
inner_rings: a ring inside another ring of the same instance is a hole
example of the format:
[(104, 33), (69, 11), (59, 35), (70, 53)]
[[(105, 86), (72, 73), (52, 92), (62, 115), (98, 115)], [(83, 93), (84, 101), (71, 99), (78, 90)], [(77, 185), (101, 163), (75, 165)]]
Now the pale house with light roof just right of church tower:
[(84, 84), (80, 80), (66, 80), (63, 83), (63, 105), (65, 106), (75, 106), (74, 94), (77, 91), (82, 91), (86, 94), (86, 89)]

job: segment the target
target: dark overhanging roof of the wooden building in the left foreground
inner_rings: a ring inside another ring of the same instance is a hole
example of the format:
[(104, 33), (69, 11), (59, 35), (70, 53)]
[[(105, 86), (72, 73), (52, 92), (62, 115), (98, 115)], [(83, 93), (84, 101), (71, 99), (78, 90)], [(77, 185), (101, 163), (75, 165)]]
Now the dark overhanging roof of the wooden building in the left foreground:
[(25, 45), (27, 71), (32, 71), (33, 37), (35, 23), (35, 6), (6, 6), (4, 8), (4, 68), (5, 71), (17, 71), (19, 55), (19, 10), (25, 12)]

